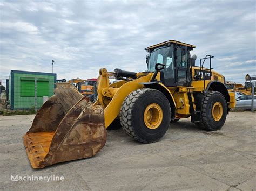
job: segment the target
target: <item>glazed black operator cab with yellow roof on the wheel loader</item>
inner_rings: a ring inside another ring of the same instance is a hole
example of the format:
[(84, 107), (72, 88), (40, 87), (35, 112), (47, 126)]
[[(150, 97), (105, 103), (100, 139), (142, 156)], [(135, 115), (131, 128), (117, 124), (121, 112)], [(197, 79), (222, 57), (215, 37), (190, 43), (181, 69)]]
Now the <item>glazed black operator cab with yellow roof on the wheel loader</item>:
[[(165, 65), (160, 71), (160, 80), (167, 87), (190, 86), (190, 66), (194, 66), (196, 55), (190, 56), (190, 51), (196, 46), (169, 40), (145, 48), (147, 55), (147, 71), (154, 72), (157, 63)], [(188, 61), (190, 63), (188, 63)]]

